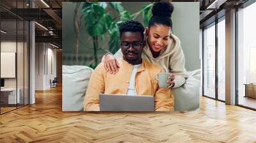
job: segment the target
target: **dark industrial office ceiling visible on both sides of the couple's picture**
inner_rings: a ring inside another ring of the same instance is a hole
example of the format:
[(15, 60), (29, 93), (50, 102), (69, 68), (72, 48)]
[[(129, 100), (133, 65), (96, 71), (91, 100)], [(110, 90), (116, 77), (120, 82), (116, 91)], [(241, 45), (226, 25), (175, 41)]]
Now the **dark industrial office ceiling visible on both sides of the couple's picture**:
[[(32, 0), (31, 3), (29, 0), (1, 0), (1, 20), (5, 21), (2, 22), (3, 26), (8, 27), (7, 30), (12, 33), (12, 29), (16, 28), (16, 25), (13, 25), (13, 19), (35, 20), (38, 23), (35, 24), (36, 41), (52, 42), (61, 46), (62, 2), (64, 1), (76, 0)], [(182, 0), (173, 0), (173, 2), (178, 1)], [(248, 0), (183, 0), (182, 2), (200, 2), (200, 27), (204, 27), (205, 24), (211, 22), (216, 13), (222, 10), (225, 14), (225, 10), (239, 6), (246, 1)], [(19, 34), (20, 31), (22, 27), (17, 33)]]

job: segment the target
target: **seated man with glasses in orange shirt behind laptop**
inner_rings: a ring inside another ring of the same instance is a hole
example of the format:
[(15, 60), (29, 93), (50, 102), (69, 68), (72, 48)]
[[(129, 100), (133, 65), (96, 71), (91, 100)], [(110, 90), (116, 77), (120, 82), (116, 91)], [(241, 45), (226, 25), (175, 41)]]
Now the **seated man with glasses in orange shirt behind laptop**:
[(145, 45), (144, 27), (140, 22), (129, 20), (122, 24), (120, 47), (123, 58), (118, 59), (119, 71), (113, 75), (100, 63), (92, 73), (84, 98), (85, 111), (99, 111), (99, 94), (127, 94), (155, 96), (156, 111), (173, 110), (171, 89), (158, 87), (154, 75), (164, 72), (159, 66), (141, 58)]

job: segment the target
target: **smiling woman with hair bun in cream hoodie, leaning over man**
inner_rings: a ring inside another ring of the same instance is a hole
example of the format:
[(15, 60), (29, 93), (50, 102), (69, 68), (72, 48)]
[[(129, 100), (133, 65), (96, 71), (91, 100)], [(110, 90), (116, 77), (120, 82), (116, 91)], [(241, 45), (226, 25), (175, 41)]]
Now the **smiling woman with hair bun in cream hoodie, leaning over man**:
[[(180, 47), (180, 40), (172, 34), (173, 4), (170, 2), (154, 3), (152, 17), (145, 29), (146, 45), (142, 57), (151, 63), (164, 68), (165, 72), (172, 73), (169, 76), (170, 88), (180, 87), (185, 83), (186, 69), (185, 57)], [(115, 56), (108, 53), (103, 58), (104, 66), (110, 73), (118, 72), (116, 58), (121, 58), (122, 52), (118, 50)], [(174, 74), (173, 74), (174, 73)]]

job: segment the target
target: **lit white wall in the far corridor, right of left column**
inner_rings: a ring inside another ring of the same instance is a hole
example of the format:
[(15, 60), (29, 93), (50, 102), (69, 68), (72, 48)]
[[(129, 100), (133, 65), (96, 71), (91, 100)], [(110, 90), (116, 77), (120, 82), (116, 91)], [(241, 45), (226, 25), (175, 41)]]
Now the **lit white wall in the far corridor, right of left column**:
[(51, 88), (50, 79), (56, 77), (56, 49), (53, 48), (49, 43), (36, 43), (35, 90)]

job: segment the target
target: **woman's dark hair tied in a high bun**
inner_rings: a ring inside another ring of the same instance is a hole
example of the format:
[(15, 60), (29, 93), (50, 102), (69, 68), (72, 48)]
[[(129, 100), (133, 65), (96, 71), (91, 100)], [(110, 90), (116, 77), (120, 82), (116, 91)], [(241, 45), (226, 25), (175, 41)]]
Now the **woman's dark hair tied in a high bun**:
[(149, 20), (148, 27), (154, 24), (163, 24), (172, 27), (173, 4), (170, 2), (155, 2), (152, 8), (152, 17)]

